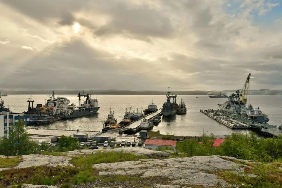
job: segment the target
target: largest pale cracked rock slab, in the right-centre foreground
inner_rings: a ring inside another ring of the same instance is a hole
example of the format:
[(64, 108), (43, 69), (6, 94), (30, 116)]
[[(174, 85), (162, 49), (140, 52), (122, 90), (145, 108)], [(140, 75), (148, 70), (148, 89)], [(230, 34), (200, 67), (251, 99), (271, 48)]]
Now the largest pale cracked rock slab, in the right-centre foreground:
[[(234, 158), (235, 159), (235, 158)], [(220, 156), (197, 156), (185, 158), (171, 158), (152, 161), (127, 161), (117, 163), (95, 164), (99, 175), (133, 175), (140, 177), (162, 176), (172, 179), (172, 184), (202, 185), (211, 187), (226, 182), (217, 179), (216, 174), (210, 171), (234, 169), (236, 163), (224, 160)], [(161, 185), (158, 185), (162, 187)], [(171, 185), (166, 185), (170, 186)]]

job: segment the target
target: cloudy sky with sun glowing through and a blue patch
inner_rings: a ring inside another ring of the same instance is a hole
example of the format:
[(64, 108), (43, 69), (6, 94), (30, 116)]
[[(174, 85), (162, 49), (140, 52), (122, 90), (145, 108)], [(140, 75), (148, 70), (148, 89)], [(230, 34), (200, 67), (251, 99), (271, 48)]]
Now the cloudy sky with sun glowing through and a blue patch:
[(279, 0), (0, 0), (0, 90), (282, 89)]

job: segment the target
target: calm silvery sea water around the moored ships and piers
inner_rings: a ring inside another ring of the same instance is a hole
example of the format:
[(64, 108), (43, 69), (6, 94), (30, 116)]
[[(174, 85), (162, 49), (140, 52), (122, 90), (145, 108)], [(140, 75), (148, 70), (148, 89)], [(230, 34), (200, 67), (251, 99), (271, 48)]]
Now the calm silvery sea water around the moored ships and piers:
[[(62, 95), (78, 103), (77, 95)], [(28, 108), (28, 95), (9, 95), (2, 97), (6, 107), (10, 105), (12, 112), (23, 112)], [(104, 122), (110, 111), (110, 106), (114, 110), (114, 116), (118, 122), (122, 120), (126, 108), (131, 106), (132, 110), (144, 110), (147, 105), (153, 102), (158, 108), (162, 108), (165, 102), (165, 95), (95, 95), (99, 100), (100, 109), (97, 114), (87, 117), (74, 118), (53, 122), (49, 125), (36, 126), (38, 128), (47, 129), (63, 129), (63, 130), (92, 130), (101, 131)], [(177, 103), (183, 98), (186, 103), (187, 114), (175, 115), (172, 117), (162, 117), (162, 122), (158, 126), (154, 126), (153, 131), (160, 130), (161, 134), (173, 134), (179, 136), (198, 136), (202, 135), (203, 131), (214, 133), (215, 135), (226, 135), (232, 132), (249, 133), (249, 130), (231, 130), (230, 128), (216, 122), (200, 112), (200, 109), (214, 108), (217, 109), (218, 103), (223, 103), (226, 98), (209, 98), (207, 95), (178, 95)], [(48, 99), (47, 95), (33, 95), (35, 104), (45, 103)], [(282, 96), (275, 95), (251, 95), (248, 98), (248, 103), (254, 107), (258, 107), (267, 115), (269, 115), (269, 124), (280, 125), (282, 123)], [(35, 126), (33, 126), (35, 127)]]

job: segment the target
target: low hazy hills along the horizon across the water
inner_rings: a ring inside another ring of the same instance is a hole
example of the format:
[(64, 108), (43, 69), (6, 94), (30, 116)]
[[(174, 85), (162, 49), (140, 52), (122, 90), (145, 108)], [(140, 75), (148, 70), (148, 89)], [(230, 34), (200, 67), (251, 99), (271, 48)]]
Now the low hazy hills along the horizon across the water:
[[(177, 95), (207, 95), (208, 92), (212, 93), (226, 93), (231, 94), (236, 90), (223, 90), (223, 91), (172, 91), (173, 94)], [(80, 94), (83, 92), (81, 90), (55, 90), (56, 95), (71, 95), (71, 94)], [(36, 91), (1, 91), (1, 93), (9, 94), (49, 94), (49, 90), (36, 90)], [(130, 91), (130, 90), (85, 90), (85, 93), (92, 93), (95, 95), (165, 95), (167, 91)], [(269, 89), (260, 89), (260, 90), (249, 90), (250, 95), (282, 95), (282, 90), (269, 90)]]

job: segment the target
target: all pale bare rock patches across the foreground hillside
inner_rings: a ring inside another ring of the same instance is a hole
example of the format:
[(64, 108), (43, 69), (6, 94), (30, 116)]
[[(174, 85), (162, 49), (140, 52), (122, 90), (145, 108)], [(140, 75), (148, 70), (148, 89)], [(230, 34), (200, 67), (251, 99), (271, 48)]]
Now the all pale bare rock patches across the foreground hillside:
[[(119, 151), (120, 148), (114, 149)], [(103, 150), (112, 151), (112, 150)], [(224, 179), (219, 178), (216, 172), (229, 171), (231, 169), (238, 171), (241, 167), (238, 166), (238, 161), (233, 157), (226, 156), (198, 156), (198, 157), (184, 157), (184, 158), (166, 158), (169, 153), (161, 151), (147, 150), (144, 148), (126, 148), (124, 151), (132, 152), (136, 155), (145, 155), (149, 159), (141, 159), (138, 161), (126, 161), (116, 163), (95, 164), (92, 167), (97, 169), (98, 174), (103, 177), (114, 175), (137, 176), (148, 179), (150, 187), (158, 188), (178, 188), (178, 187), (226, 187), (227, 183)], [(66, 156), (52, 156), (52, 155), (26, 155), (21, 156), (22, 162), (15, 167), (0, 168), (0, 171), (11, 168), (26, 168), (31, 166), (67, 166), (69, 163), (69, 156), (92, 154), (93, 150), (77, 150), (65, 152)], [(4, 157), (4, 156), (2, 156)], [(236, 162), (237, 163), (236, 163)], [(244, 169), (244, 167), (243, 167)], [(159, 178), (160, 181), (151, 181), (154, 178)], [(74, 187), (127, 187), (122, 182), (118, 183), (102, 183), (90, 182)], [(24, 184), (24, 188), (39, 188), (48, 186), (33, 186)], [(49, 186), (49, 188), (54, 186)], [(59, 187), (55, 186), (55, 187)]]

